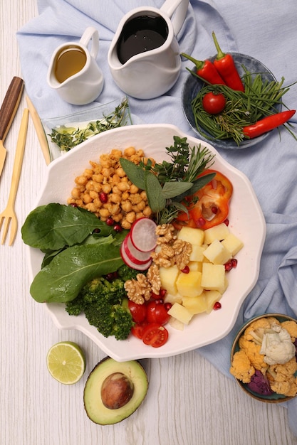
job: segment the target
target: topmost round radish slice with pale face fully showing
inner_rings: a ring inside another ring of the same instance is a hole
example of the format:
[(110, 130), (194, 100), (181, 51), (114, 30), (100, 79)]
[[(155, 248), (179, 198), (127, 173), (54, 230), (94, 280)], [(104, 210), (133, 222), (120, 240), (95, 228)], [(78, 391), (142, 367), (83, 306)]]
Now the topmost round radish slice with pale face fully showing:
[(157, 245), (156, 227), (150, 218), (136, 220), (130, 230), (133, 246), (140, 252), (152, 252)]

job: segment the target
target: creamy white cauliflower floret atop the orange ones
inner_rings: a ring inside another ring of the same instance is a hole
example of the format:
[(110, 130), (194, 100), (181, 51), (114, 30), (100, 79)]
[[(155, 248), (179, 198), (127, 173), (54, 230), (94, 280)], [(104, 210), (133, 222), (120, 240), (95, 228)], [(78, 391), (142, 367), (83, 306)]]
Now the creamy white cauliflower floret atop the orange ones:
[(264, 333), (260, 353), (265, 355), (264, 362), (268, 365), (282, 365), (294, 357), (296, 348), (286, 329), (272, 325), (271, 331)]

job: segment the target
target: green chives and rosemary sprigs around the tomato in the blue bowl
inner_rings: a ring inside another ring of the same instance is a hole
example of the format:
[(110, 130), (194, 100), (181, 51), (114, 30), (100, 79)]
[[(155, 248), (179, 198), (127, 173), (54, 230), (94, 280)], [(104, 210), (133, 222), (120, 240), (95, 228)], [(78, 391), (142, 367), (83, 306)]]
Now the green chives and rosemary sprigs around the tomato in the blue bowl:
[[(242, 129), (265, 116), (275, 114), (289, 87), (281, 82), (266, 80), (261, 73), (251, 74), (244, 68), (245, 91), (235, 91), (226, 85), (205, 85), (192, 100), (192, 111), (199, 132), (209, 140), (233, 139), (239, 145), (244, 139)], [(222, 93), (226, 107), (219, 114), (204, 110), (202, 100), (208, 92)]]

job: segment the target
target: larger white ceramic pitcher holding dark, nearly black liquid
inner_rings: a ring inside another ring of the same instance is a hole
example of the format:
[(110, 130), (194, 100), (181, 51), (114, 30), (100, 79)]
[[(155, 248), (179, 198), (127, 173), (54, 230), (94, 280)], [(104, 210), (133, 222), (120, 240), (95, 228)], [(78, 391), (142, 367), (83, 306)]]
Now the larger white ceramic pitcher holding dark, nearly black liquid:
[[(122, 18), (108, 51), (108, 65), (127, 95), (152, 99), (177, 81), (181, 58), (176, 36), (188, 6), (189, 0), (166, 0), (160, 9), (142, 6)], [(147, 48), (145, 41), (149, 41)]]

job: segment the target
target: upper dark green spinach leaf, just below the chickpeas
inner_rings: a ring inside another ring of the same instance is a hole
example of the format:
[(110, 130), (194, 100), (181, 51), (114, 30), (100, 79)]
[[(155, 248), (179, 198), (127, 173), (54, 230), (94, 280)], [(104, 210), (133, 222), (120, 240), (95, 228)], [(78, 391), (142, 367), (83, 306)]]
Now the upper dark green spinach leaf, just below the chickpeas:
[(80, 244), (95, 229), (101, 236), (113, 232), (113, 227), (88, 210), (51, 203), (41, 205), (28, 214), (21, 227), (21, 235), (25, 244), (48, 252)]

